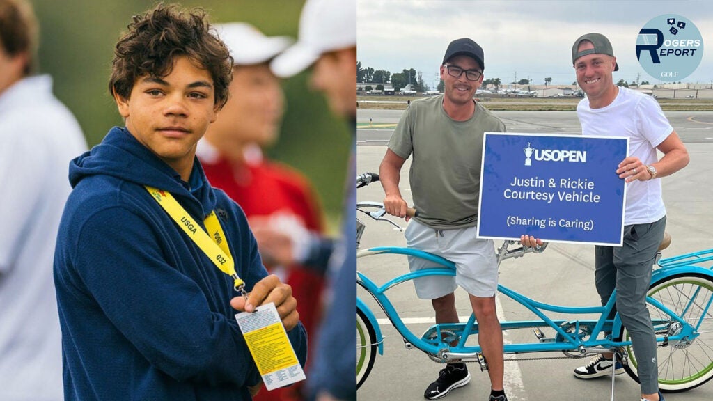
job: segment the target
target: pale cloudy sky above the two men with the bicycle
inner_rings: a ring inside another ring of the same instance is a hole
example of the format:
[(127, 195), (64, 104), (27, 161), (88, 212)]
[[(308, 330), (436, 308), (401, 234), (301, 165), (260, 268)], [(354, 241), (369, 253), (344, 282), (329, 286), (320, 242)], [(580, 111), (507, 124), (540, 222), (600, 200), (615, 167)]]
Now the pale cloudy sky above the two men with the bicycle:
[(652, 18), (678, 14), (692, 21), (704, 42), (701, 64), (685, 82), (713, 85), (713, 1), (637, 0), (358, 0), (361, 66), (391, 73), (414, 68), (434, 87), (448, 43), (470, 37), (483, 47), (485, 78), (522, 78), (542, 85), (575, 81), (572, 44), (588, 32), (612, 42), (620, 71), (615, 82), (660, 83), (636, 59), (639, 30)]

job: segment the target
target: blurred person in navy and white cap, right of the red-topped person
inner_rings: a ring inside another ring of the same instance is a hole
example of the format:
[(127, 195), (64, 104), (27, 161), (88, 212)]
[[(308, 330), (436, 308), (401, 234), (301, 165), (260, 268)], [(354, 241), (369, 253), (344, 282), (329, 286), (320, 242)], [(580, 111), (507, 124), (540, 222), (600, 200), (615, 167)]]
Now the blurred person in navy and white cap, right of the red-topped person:
[(352, 124), (352, 156), (342, 215), (342, 240), (329, 266), (329, 303), (307, 375), (310, 399), (356, 400), (356, 0), (307, 0), (299, 39), (270, 67), (292, 76), (314, 65), (312, 88)]

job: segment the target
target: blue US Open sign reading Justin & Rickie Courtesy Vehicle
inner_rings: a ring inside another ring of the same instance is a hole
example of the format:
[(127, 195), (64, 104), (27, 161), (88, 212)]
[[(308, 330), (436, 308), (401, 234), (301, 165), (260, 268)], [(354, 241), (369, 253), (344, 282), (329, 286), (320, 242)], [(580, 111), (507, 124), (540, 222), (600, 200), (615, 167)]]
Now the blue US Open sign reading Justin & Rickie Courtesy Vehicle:
[(485, 133), (478, 237), (622, 245), (628, 138)]

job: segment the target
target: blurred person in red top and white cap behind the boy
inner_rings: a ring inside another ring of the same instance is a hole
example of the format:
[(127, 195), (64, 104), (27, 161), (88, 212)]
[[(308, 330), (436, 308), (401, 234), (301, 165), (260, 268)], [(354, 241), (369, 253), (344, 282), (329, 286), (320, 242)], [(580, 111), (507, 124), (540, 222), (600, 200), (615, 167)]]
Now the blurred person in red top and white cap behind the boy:
[[(233, 59), (230, 98), (198, 143), (196, 155), (211, 185), (245, 211), (263, 263), (292, 286), (299, 318), (312, 333), (319, 323), (331, 242), (322, 237), (321, 206), (307, 178), (262, 153), (277, 141), (284, 112), (284, 92), (269, 63), (293, 40), (265, 36), (244, 22), (216, 24), (215, 29)], [(312, 336), (309, 340), (311, 346)], [(309, 363), (305, 372), (309, 375)], [(301, 399), (302, 382), (255, 397)]]

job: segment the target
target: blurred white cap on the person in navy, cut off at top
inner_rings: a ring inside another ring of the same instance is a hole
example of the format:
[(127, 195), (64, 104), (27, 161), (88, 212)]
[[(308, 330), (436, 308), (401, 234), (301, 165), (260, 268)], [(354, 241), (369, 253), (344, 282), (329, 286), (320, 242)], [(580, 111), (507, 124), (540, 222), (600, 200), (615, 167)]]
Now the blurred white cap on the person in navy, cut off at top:
[(299, 17), (297, 44), (275, 57), (270, 68), (287, 78), (327, 51), (356, 46), (356, 0), (307, 0)]

